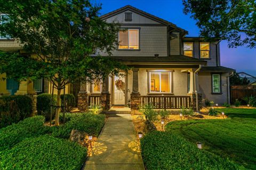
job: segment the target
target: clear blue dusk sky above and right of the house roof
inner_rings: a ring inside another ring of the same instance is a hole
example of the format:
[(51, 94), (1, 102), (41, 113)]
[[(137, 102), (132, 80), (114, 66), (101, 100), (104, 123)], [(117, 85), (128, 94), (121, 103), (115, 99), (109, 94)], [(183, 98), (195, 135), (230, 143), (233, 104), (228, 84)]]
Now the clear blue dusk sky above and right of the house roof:
[[(93, 0), (101, 3), (101, 14), (114, 11), (125, 5), (132, 5), (142, 11), (170, 21), (189, 32), (188, 36), (199, 36), (196, 22), (183, 13), (181, 0)], [(256, 76), (256, 49), (246, 47), (228, 48), (227, 42), (220, 43), (221, 65), (235, 69), (237, 72), (247, 72)]]

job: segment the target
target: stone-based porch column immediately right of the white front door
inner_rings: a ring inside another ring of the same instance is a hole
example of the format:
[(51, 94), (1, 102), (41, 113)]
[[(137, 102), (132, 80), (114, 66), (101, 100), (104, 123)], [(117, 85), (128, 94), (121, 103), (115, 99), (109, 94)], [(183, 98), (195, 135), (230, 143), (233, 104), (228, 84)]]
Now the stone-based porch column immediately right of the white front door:
[(140, 108), (141, 98), (139, 92), (138, 68), (132, 69), (132, 93), (131, 93), (131, 109), (138, 110)]

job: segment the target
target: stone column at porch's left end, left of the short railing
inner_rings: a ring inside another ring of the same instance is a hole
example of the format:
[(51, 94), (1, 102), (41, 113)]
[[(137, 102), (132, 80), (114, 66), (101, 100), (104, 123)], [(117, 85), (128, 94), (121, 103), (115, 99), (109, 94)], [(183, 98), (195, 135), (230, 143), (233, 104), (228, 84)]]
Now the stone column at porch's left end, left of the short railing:
[(81, 82), (80, 91), (78, 92), (78, 101), (77, 107), (79, 111), (86, 112), (88, 111), (88, 103), (89, 103), (89, 95), (90, 92), (88, 91), (87, 83)]

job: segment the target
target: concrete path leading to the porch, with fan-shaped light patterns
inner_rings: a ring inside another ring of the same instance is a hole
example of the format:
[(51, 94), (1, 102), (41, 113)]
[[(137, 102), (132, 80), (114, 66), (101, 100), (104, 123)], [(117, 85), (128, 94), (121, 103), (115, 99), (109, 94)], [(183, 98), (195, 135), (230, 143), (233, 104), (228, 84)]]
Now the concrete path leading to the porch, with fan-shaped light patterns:
[(84, 169), (145, 169), (130, 114), (108, 118)]

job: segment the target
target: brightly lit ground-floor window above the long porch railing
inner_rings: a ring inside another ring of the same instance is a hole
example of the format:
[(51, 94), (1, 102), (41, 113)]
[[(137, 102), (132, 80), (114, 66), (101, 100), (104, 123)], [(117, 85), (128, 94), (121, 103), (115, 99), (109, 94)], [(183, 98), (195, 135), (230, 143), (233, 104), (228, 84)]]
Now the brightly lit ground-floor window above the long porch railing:
[(149, 73), (150, 92), (171, 92), (170, 72)]

